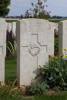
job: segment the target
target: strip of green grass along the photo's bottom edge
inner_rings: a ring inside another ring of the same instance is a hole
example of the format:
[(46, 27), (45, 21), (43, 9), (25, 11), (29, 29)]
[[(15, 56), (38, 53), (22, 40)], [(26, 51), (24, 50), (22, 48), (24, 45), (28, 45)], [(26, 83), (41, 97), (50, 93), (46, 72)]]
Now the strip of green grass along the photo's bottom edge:
[(60, 95), (42, 95), (42, 96), (35, 96), (30, 98), (24, 97), (6, 97), (0, 98), (0, 100), (67, 100), (67, 93), (60, 94)]

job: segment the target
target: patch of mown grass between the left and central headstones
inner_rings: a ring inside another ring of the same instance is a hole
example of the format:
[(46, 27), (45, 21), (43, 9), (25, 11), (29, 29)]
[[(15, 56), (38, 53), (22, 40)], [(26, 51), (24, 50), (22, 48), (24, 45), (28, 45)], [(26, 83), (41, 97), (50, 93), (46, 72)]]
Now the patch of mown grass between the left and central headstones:
[(6, 59), (6, 80), (14, 81), (16, 79), (16, 59), (15, 58), (7, 58)]

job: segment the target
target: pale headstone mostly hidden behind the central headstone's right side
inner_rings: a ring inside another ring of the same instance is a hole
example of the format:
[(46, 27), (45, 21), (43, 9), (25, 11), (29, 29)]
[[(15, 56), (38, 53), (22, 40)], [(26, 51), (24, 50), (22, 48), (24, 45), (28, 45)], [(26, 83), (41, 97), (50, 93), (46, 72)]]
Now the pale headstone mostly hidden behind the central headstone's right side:
[(48, 38), (47, 38), (47, 41), (48, 41), (48, 55), (53, 57), (54, 56), (54, 29), (56, 27), (55, 27), (55, 24), (52, 23), (52, 22), (49, 22), (48, 26), (49, 26), (49, 28), (48, 28), (49, 33), (48, 33)]

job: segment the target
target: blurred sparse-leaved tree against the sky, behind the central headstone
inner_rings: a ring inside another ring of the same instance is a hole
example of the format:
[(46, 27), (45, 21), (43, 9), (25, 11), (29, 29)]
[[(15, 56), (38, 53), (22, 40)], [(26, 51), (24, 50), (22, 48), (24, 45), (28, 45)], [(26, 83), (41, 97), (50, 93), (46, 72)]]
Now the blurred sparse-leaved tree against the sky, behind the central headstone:
[(33, 17), (33, 18), (43, 18), (47, 19), (50, 17), (50, 12), (46, 11), (46, 8), (48, 7), (45, 3), (47, 0), (38, 0), (37, 3), (32, 3), (32, 8), (27, 10), (25, 14), (26, 18)]

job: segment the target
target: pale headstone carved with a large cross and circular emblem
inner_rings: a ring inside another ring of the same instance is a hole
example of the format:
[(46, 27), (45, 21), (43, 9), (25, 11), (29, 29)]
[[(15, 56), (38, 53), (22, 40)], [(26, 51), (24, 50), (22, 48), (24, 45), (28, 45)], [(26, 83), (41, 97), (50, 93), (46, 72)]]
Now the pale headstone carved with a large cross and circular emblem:
[(17, 22), (17, 76), (20, 86), (29, 85), (40, 66), (48, 62), (49, 22), (23, 19)]

